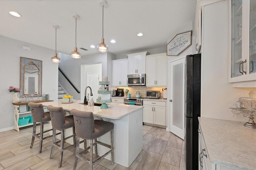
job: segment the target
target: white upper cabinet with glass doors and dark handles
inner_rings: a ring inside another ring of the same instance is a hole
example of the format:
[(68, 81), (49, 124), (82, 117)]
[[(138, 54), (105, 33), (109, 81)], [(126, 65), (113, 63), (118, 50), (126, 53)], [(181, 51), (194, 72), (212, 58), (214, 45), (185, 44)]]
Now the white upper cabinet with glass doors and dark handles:
[(230, 83), (256, 80), (256, 0), (230, 0)]

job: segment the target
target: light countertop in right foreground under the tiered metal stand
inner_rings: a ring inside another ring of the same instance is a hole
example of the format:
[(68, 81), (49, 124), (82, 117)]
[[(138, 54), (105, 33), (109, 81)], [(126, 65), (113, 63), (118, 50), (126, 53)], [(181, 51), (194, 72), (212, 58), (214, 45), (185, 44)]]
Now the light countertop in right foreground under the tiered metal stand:
[(212, 163), (234, 169), (256, 169), (256, 129), (244, 127), (244, 122), (203, 117), (198, 120)]

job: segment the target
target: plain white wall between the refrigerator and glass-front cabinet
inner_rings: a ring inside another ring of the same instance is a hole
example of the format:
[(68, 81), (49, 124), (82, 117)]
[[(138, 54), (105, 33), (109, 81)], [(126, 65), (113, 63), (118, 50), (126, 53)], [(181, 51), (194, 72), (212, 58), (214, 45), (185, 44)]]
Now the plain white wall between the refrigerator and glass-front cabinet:
[(228, 83), (228, 1), (205, 6), (202, 16), (201, 117), (248, 121), (234, 117), (229, 109), (253, 88)]

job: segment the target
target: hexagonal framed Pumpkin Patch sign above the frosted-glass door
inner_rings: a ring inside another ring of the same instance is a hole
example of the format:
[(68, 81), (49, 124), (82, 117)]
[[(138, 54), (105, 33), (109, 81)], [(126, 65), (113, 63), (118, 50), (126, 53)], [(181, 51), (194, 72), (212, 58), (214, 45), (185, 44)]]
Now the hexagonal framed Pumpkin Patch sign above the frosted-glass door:
[(177, 34), (167, 44), (167, 55), (179, 55), (192, 44), (192, 31)]

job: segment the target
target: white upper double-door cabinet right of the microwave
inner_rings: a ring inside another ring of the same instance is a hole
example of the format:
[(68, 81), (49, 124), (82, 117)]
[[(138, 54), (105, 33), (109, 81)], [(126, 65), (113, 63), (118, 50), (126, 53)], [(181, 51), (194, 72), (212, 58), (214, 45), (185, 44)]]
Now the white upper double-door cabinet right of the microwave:
[(167, 86), (166, 53), (147, 55), (146, 86)]

